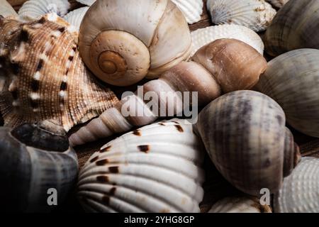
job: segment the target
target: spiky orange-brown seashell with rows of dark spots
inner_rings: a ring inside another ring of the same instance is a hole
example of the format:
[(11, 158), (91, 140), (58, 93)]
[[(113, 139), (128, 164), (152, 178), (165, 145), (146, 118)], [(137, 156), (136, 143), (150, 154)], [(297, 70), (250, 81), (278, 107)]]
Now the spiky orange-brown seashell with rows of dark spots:
[(76, 38), (56, 14), (28, 23), (0, 19), (0, 64), (7, 75), (0, 95), (5, 126), (54, 119), (69, 131), (118, 101), (86, 70)]

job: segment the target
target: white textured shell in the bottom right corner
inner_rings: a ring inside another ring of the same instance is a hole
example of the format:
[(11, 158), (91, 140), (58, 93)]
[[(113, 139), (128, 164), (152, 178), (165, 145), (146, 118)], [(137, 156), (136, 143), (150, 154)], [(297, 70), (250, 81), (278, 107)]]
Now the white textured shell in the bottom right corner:
[(319, 159), (303, 157), (274, 197), (277, 213), (319, 212)]

